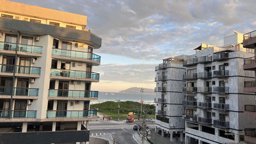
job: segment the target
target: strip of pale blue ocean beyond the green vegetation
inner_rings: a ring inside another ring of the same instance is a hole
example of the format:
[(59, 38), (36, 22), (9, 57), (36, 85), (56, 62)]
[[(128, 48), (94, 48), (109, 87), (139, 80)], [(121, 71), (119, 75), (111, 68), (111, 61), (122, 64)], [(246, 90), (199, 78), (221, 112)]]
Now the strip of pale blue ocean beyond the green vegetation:
[[(155, 95), (145, 93), (142, 95), (142, 100), (145, 104), (154, 104), (154, 98)], [(91, 104), (117, 100), (141, 102), (141, 93), (99, 92), (99, 99), (91, 101)]]

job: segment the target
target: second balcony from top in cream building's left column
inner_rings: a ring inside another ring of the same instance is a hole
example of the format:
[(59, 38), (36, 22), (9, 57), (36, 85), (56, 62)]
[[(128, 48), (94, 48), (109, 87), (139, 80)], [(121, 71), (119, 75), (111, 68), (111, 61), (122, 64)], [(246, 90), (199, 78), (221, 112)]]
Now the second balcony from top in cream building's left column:
[[(35, 77), (39, 78), (41, 74), (41, 67), (32, 66), (16, 66), (15, 75), (20, 77)], [(14, 65), (0, 64), (0, 70), (2, 76), (13, 76)]]

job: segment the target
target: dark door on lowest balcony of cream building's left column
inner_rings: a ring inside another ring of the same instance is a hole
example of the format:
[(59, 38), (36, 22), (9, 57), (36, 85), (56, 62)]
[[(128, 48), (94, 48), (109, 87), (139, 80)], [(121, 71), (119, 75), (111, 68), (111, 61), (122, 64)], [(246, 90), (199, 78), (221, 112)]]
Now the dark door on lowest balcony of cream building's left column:
[(26, 117), (27, 100), (15, 99), (13, 117)]

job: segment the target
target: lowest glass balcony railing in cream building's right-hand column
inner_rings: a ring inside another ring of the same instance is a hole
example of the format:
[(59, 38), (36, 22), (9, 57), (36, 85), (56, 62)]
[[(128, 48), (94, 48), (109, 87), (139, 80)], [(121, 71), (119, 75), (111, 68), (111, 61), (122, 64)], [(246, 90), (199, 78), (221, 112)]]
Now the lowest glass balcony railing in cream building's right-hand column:
[(65, 117), (65, 118), (87, 118), (97, 115), (96, 109), (90, 110), (47, 110), (47, 118)]

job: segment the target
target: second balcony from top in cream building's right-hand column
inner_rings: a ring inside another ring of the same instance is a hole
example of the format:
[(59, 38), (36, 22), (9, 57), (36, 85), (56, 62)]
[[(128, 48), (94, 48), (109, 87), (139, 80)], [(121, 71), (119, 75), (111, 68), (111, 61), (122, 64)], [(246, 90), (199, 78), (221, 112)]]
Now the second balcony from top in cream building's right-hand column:
[(51, 69), (51, 78), (64, 80), (83, 80), (89, 82), (99, 82), (100, 74), (95, 72)]

